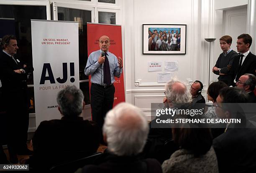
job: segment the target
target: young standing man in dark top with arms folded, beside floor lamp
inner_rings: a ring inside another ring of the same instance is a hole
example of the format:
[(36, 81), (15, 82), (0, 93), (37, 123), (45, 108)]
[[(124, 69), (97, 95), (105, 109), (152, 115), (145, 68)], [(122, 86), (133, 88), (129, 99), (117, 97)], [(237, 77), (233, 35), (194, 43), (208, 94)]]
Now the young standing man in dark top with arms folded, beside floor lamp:
[(234, 58), (238, 55), (236, 51), (230, 49), (232, 38), (229, 35), (224, 35), (220, 38), (220, 48), (223, 53), (220, 54), (212, 72), (219, 75), (218, 80), (223, 81), (228, 86), (233, 85), (233, 74), (231, 73), (231, 65)]

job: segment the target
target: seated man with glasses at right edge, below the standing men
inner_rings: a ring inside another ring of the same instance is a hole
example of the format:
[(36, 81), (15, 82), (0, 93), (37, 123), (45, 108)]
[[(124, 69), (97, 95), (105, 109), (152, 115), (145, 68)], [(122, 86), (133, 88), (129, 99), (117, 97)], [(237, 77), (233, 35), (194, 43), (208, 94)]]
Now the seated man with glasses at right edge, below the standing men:
[(256, 85), (256, 77), (253, 74), (246, 73), (242, 75), (236, 83), (236, 88), (245, 90), (249, 94), (248, 103), (256, 103), (256, 96), (254, 95), (254, 89)]

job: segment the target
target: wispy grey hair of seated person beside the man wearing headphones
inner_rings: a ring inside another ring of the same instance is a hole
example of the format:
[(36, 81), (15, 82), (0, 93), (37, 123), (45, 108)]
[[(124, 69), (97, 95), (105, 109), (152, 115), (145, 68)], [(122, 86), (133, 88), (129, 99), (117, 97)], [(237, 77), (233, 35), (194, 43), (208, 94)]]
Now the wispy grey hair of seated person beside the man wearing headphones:
[[(174, 84), (179, 84), (181, 87), (173, 87)], [(192, 102), (192, 95), (190, 94), (187, 86), (176, 79), (172, 79), (165, 85), (165, 95), (169, 102), (172, 104), (177, 103), (191, 103)]]

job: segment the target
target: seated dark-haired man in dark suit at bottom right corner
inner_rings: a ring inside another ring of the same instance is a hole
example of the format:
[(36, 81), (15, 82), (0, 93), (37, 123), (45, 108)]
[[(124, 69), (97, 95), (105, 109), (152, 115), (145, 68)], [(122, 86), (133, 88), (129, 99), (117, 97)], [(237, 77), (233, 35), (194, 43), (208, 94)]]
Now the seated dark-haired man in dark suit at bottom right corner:
[(248, 121), (241, 104), (248, 94), (238, 88), (220, 90), (216, 99), (219, 118), (237, 118), (241, 123), (228, 123), (225, 133), (213, 140), (220, 173), (252, 173), (256, 170), (256, 127)]

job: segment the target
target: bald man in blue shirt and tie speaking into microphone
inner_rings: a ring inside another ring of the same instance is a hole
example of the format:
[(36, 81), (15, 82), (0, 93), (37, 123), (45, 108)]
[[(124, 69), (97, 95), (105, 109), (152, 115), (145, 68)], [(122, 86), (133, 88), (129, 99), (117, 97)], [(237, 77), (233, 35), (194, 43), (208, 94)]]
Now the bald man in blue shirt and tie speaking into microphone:
[(123, 60), (108, 51), (110, 39), (102, 35), (99, 39), (100, 50), (92, 52), (84, 69), (85, 75), (91, 75), (90, 102), (92, 108), (92, 120), (100, 129), (108, 110), (113, 108), (115, 78), (123, 72)]

